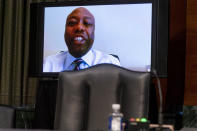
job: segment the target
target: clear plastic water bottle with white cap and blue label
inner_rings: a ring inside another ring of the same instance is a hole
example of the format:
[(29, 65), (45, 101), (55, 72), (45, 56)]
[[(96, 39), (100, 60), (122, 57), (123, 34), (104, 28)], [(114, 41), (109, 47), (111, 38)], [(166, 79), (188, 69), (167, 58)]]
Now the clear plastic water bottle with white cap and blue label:
[(109, 117), (109, 131), (123, 131), (123, 114), (120, 112), (120, 104), (112, 105), (112, 114)]

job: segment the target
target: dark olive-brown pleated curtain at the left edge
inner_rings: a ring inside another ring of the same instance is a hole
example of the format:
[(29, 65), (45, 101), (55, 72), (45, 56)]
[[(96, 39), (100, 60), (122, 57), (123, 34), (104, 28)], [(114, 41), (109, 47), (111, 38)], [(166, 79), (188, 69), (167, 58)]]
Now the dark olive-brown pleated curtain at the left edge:
[(27, 76), (27, 1), (0, 1), (0, 103), (20, 105)]

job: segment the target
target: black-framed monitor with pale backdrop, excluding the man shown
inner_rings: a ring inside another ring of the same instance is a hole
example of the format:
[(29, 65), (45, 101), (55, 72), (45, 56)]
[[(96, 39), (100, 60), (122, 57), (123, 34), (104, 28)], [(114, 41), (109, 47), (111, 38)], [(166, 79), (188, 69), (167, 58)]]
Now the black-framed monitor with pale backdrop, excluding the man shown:
[(34, 60), (29, 64), (30, 74), (58, 74), (45, 71), (45, 60), (69, 52), (64, 38), (66, 20), (79, 7), (95, 18), (91, 49), (118, 57), (120, 66), (129, 70), (150, 72), (156, 67), (155, 0), (41, 2), (31, 5), (30, 57)]

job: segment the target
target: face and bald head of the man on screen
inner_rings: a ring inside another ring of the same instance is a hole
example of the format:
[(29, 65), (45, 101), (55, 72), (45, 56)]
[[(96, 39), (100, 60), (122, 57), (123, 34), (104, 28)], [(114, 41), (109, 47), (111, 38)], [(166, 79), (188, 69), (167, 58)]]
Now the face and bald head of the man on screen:
[(85, 8), (75, 9), (67, 18), (64, 38), (74, 57), (85, 55), (94, 42), (95, 21)]

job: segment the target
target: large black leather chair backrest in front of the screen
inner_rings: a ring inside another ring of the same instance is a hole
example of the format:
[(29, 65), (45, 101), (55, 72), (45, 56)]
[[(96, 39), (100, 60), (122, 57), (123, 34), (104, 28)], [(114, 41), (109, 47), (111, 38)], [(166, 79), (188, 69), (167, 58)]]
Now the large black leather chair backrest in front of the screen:
[(150, 73), (111, 64), (62, 72), (57, 90), (55, 129), (106, 130), (112, 104), (125, 119), (148, 117)]

